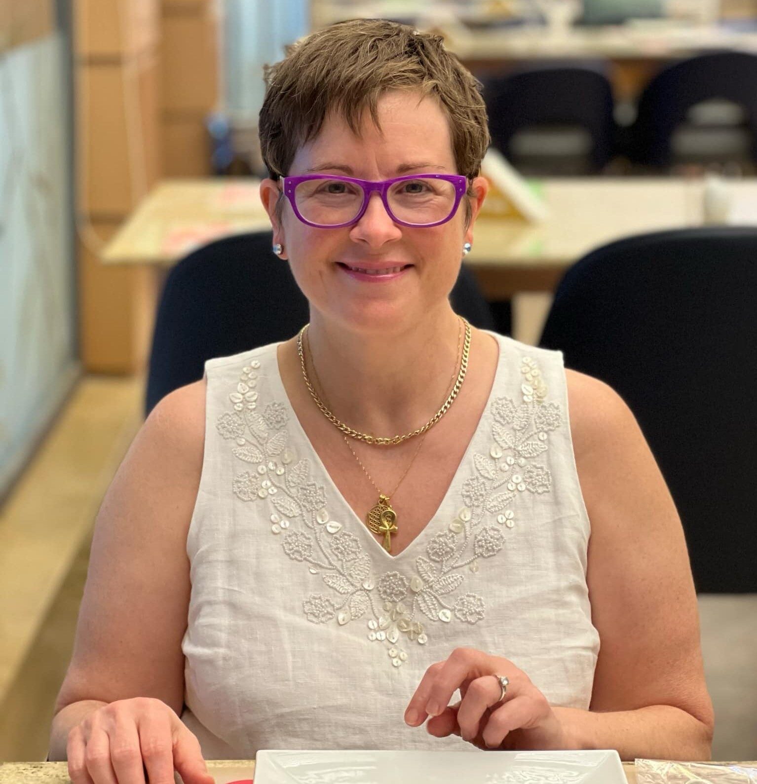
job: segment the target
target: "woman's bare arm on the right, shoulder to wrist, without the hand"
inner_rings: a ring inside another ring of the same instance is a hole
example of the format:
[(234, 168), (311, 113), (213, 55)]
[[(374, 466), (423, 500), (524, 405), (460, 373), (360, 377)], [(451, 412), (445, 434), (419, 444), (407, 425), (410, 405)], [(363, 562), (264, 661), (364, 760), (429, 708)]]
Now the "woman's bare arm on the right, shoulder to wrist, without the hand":
[(712, 705), (679, 516), (621, 398), (568, 372), (578, 474), (591, 520), (588, 586), (601, 648), (591, 710), (555, 709), (573, 748), (707, 759)]

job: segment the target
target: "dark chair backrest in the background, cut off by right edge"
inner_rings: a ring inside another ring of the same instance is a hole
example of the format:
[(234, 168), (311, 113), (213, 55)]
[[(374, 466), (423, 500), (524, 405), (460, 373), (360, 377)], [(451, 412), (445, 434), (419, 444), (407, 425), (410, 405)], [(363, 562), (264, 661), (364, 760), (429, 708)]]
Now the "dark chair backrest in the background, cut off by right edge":
[(635, 162), (665, 167), (671, 139), (691, 107), (707, 100), (729, 100), (743, 110), (757, 161), (757, 55), (715, 52), (673, 64), (646, 86), (634, 125), (629, 154)]

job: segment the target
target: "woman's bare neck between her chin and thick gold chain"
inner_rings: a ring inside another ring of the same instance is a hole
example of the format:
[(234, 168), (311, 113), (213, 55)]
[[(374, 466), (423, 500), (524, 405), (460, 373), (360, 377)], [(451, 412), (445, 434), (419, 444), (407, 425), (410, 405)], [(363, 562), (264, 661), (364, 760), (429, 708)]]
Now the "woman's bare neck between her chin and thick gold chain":
[(457, 377), (462, 337), (448, 305), (411, 327), (379, 334), (348, 332), (314, 313), (304, 354), (311, 383), (338, 419), (394, 436), (424, 425), (442, 405)]

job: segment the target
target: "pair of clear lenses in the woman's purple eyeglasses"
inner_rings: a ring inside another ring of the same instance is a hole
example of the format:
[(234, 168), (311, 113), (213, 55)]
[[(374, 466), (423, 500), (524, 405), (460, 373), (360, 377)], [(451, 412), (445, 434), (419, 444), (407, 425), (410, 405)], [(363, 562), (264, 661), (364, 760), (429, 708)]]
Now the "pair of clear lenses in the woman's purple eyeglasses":
[[(300, 215), (321, 226), (349, 223), (358, 215), (365, 191), (358, 183), (333, 180), (305, 180), (294, 191)], [(388, 189), (391, 216), (403, 223), (425, 226), (446, 220), (455, 206), (455, 187), (446, 180), (400, 180)]]

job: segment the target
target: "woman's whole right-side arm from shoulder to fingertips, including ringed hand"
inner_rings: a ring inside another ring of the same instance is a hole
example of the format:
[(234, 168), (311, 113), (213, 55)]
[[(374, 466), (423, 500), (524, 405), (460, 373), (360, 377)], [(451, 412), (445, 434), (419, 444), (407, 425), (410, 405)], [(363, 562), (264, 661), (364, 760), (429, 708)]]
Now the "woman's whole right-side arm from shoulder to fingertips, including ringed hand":
[[(617, 749), (624, 759), (708, 758), (712, 706), (675, 506), (621, 398), (574, 372), (568, 372), (568, 397), (591, 519), (588, 588), (601, 646), (590, 710), (552, 707), (513, 662), (455, 648), (424, 673), (406, 723), (418, 727), (431, 717), (431, 735), (455, 733), (482, 749)], [(461, 699), (449, 705), (457, 689)]]

